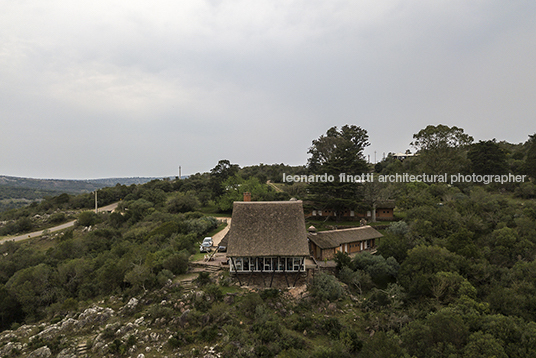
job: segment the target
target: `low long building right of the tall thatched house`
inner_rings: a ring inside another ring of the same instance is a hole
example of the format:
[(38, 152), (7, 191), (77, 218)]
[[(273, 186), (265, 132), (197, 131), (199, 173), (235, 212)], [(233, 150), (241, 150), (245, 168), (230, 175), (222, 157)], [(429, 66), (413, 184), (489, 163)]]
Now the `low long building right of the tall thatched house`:
[(311, 252), (316, 259), (332, 259), (338, 251), (349, 254), (376, 248), (376, 240), (383, 235), (372, 226), (320, 231), (311, 230), (309, 235)]

